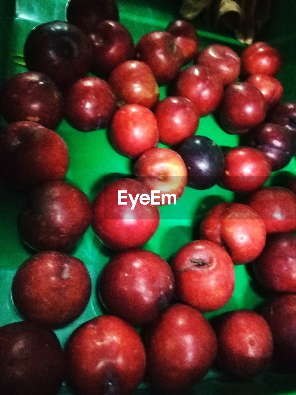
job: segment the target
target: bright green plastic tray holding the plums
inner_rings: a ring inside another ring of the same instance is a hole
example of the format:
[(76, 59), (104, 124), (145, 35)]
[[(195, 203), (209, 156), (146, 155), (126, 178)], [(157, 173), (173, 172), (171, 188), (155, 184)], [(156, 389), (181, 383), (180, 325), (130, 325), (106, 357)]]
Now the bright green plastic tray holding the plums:
[[(169, 21), (178, 17), (180, 1), (169, 0), (118, 0), (120, 21), (137, 41), (144, 33), (152, 30), (164, 30)], [(0, 78), (10, 77), (25, 71), (15, 64), (15, 55), (22, 54), (27, 34), (39, 23), (65, 20), (66, 0), (0, 0)], [(267, 40), (283, 56), (283, 68), (279, 80), (284, 87), (284, 100), (296, 99), (296, 2), (295, 0), (274, 1), (272, 16), (258, 39)], [(243, 46), (231, 32), (219, 30), (211, 32), (202, 20), (197, 22), (200, 46), (212, 43), (225, 43), (240, 53)], [(161, 98), (165, 97), (165, 87), (160, 89)], [(4, 124), (3, 120), (1, 124)], [(117, 154), (109, 144), (107, 131), (82, 133), (71, 128), (65, 120), (57, 132), (65, 139), (70, 153), (70, 167), (66, 181), (81, 188), (92, 200), (102, 184), (104, 176), (110, 173), (131, 174), (131, 160)], [(217, 144), (233, 147), (238, 137), (223, 132), (212, 115), (200, 120), (197, 134), (213, 139)], [(287, 172), (296, 173), (295, 159), (282, 171), (273, 173), (269, 184), (282, 184)], [(160, 254), (166, 260), (193, 239), (198, 238), (198, 223), (204, 214), (221, 201), (231, 201), (232, 192), (220, 186), (205, 191), (185, 188), (184, 195), (176, 206), (161, 207), (161, 223), (152, 239), (143, 248)], [(11, 301), (11, 280), (16, 269), (33, 251), (20, 241), (16, 218), (26, 195), (15, 192), (0, 184), (0, 325), (21, 320)], [(92, 296), (83, 314), (75, 322), (56, 331), (64, 346), (69, 335), (82, 322), (102, 313), (96, 297), (97, 277), (109, 260), (112, 252), (105, 248), (94, 235), (91, 228), (81, 241), (70, 251), (80, 258), (90, 271), (92, 278)], [(238, 308), (259, 308), (267, 295), (257, 286), (251, 277), (249, 267), (235, 267), (236, 285), (229, 303), (221, 310), (206, 314), (211, 318), (222, 312)], [(154, 393), (146, 383), (141, 384), (137, 394)], [(271, 368), (253, 380), (240, 382), (225, 374), (212, 370), (193, 389), (190, 394), (292, 394), (296, 393), (296, 375), (279, 372)], [(72, 394), (66, 384), (60, 394)], [(1, 394), (6, 395), (6, 394)]]

